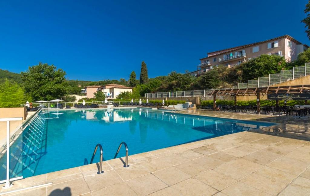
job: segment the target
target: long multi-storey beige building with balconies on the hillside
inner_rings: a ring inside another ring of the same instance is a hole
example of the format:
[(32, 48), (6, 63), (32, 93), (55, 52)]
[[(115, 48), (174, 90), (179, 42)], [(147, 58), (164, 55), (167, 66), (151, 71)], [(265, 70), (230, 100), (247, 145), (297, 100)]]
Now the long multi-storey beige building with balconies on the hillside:
[(262, 54), (283, 56), (286, 61), (290, 62), (295, 60), (298, 54), (306, 49), (308, 49), (308, 45), (300, 43), (289, 35), (284, 35), (261, 42), (207, 53), (207, 57), (200, 59), (200, 70), (197, 70), (196, 73), (191, 73), (193, 73), (192, 75), (203, 74), (219, 65), (231, 68)]

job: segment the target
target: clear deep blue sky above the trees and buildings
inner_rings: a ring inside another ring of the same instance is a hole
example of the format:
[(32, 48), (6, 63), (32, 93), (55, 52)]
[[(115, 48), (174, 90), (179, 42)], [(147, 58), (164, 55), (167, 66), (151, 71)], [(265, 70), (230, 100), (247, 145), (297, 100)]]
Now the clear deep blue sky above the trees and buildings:
[(309, 44), (307, 0), (0, 1), (0, 68), (54, 64), (67, 79), (196, 70), (207, 52), (289, 34)]

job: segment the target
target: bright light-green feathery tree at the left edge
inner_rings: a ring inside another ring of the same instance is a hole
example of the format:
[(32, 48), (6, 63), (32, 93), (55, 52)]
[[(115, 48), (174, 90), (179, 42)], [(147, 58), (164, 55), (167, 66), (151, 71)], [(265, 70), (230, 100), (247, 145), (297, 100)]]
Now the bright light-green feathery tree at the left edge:
[(0, 84), (0, 108), (20, 107), (25, 104), (25, 92), (16, 82), (5, 79)]

